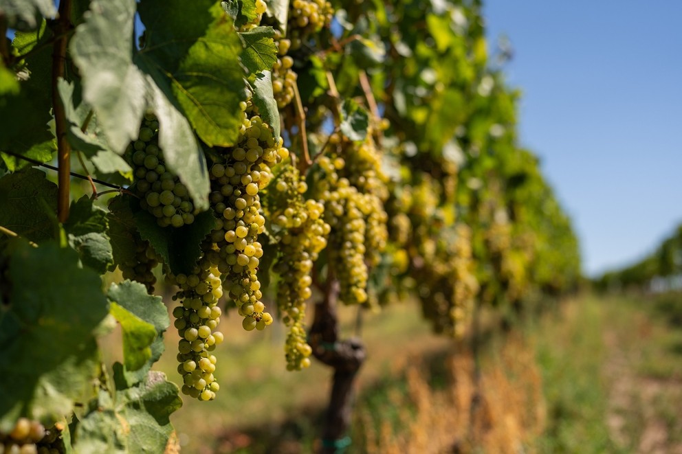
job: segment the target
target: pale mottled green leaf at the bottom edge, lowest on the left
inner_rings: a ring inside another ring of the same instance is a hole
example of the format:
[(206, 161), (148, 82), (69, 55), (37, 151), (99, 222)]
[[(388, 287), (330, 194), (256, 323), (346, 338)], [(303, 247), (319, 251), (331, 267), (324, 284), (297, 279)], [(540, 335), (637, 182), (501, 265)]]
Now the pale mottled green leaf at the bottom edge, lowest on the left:
[(182, 401), (162, 372), (149, 372), (143, 383), (115, 392), (100, 391), (74, 436), (78, 453), (164, 453), (173, 443), (168, 417)]

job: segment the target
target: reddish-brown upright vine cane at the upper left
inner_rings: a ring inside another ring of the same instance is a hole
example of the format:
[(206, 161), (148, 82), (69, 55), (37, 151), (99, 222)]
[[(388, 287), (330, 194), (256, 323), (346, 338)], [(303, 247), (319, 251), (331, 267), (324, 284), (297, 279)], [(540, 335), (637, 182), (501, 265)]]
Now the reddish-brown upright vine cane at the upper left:
[(59, 95), (57, 84), (65, 74), (66, 49), (69, 43), (66, 32), (71, 29), (71, 1), (59, 2), (59, 15), (53, 23), (53, 30), (59, 37), (54, 41), (52, 51), (52, 106), (54, 107), (54, 123), (57, 136), (57, 217), (65, 223), (69, 218), (70, 203), (70, 166), (71, 145), (67, 137), (67, 119), (64, 104)]

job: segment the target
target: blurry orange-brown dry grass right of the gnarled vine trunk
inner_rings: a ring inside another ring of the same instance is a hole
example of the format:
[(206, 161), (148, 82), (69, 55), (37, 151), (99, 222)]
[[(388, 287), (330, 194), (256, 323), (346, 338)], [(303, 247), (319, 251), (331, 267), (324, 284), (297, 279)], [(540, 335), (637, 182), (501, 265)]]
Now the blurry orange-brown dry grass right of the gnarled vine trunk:
[[(445, 385), (432, 383), (428, 367), (411, 358), (404, 369), (404, 393), (393, 387), (387, 411), (358, 407), (355, 430), (367, 453), (528, 452), (544, 427), (542, 383), (530, 345), (509, 339), (488, 361), (476, 383), (470, 354), (445, 359)], [(400, 369), (401, 365), (396, 365)], [(390, 411), (389, 411), (390, 412)], [(379, 418), (377, 418), (379, 416)]]

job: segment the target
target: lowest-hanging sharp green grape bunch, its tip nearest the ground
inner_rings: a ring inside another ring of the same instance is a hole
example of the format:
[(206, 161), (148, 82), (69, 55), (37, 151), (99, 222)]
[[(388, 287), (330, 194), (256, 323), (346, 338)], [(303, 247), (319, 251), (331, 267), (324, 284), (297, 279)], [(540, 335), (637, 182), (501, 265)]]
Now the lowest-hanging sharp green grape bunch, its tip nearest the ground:
[(173, 309), (173, 317), (181, 337), (177, 372), (182, 376), (182, 392), (199, 400), (213, 400), (219, 389), (213, 376), (216, 357), (210, 354), (223, 341), (223, 333), (216, 330), (221, 316), (217, 304), (223, 295), (219, 276), (205, 257), (191, 274), (166, 275), (170, 284), (180, 288), (173, 299), (181, 305)]

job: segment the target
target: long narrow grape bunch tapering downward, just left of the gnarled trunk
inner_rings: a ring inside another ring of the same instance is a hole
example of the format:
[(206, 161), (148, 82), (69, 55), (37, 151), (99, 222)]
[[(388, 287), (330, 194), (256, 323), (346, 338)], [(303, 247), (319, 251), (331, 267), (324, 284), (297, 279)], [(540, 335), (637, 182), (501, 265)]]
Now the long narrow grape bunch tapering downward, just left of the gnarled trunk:
[(310, 365), (312, 353), (306, 340), (303, 320), (305, 302), (312, 295), (311, 271), (318, 254), (327, 246), (331, 227), (322, 218), (325, 207), (314, 199), (305, 200), (305, 181), (298, 170), (287, 163), (268, 194), (272, 223), (281, 228), (280, 255), (274, 271), (280, 275), (277, 301), (283, 321), (289, 327), (285, 343), (288, 370)]

